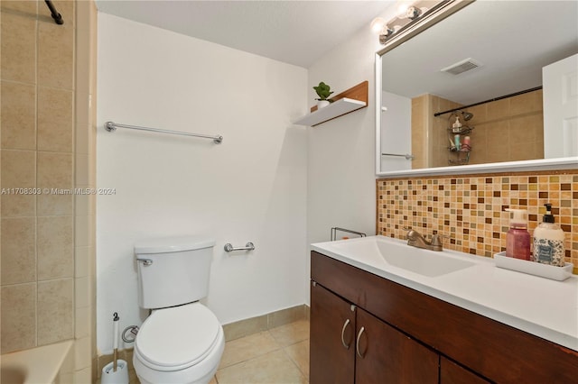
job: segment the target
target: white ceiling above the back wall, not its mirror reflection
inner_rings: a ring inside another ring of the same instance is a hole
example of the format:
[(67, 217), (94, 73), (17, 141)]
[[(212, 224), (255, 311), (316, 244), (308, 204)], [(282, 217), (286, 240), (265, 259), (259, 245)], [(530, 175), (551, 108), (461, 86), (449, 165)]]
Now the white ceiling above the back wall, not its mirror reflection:
[(395, 1), (97, 0), (98, 11), (309, 68)]

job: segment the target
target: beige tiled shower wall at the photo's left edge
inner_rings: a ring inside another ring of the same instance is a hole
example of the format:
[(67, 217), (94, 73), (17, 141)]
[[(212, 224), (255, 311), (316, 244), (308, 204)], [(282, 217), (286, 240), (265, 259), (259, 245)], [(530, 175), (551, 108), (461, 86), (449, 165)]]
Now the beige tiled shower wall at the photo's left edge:
[[(91, 2), (53, 3), (63, 25), (43, 1), (1, 3), (2, 353), (75, 338), (92, 343), (95, 197), (53, 188), (95, 184), (91, 74), (75, 67), (91, 68), (96, 10)], [(75, 41), (88, 48), (76, 51)], [(77, 359), (79, 378), (90, 378), (90, 367), (89, 352)]]

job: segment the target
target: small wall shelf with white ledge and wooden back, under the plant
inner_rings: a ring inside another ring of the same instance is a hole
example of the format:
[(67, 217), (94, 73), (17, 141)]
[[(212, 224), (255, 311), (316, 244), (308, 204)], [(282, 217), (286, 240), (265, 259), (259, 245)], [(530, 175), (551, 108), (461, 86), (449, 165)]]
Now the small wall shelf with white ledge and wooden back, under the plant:
[(332, 97), (333, 103), (321, 109), (312, 106), (311, 114), (306, 114), (302, 118), (294, 121), (294, 124), (315, 126), (325, 123), (343, 114), (350, 114), (358, 109), (368, 106), (368, 81), (359, 83), (355, 87), (341, 92)]

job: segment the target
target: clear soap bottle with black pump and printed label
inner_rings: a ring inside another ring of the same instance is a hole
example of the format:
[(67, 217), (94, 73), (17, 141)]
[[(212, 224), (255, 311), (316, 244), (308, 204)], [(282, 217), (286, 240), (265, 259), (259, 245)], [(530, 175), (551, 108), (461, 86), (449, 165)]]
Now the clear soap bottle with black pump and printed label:
[(552, 205), (545, 204), (543, 222), (534, 230), (533, 260), (564, 267), (564, 231), (555, 224)]

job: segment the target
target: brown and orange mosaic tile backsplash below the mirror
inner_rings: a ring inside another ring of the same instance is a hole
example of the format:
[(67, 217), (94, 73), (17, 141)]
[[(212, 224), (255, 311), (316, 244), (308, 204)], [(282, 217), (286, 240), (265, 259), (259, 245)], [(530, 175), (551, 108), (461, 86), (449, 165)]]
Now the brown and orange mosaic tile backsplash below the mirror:
[(565, 261), (578, 273), (578, 170), (377, 180), (377, 233), (404, 239), (403, 227), (450, 236), (444, 247), (493, 257), (506, 251), (509, 214), (527, 209), (530, 235), (553, 206), (565, 234)]

